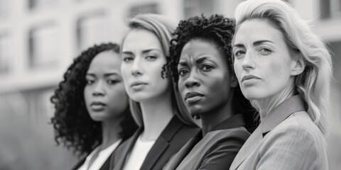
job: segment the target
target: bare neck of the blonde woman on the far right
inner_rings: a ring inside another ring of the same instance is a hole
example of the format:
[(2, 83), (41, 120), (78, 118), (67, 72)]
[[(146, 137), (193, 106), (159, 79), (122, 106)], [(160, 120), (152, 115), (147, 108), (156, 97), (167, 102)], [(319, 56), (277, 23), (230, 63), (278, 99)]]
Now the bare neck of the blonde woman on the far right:
[(286, 101), (286, 99), (291, 98), (294, 95), (294, 84), (286, 86), (285, 89), (280, 91), (278, 94), (274, 94), (268, 98), (262, 98), (256, 100), (256, 105), (259, 107), (259, 115), (261, 120), (266, 117), (274, 108)]

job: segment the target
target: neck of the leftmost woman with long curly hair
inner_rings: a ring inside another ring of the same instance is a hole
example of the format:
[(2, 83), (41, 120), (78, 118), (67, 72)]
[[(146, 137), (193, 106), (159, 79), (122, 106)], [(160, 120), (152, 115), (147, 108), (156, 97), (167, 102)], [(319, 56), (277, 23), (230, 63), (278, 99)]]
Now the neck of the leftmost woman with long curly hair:
[(102, 149), (109, 147), (119, 140), (121, 132), (121, 118), (102, 121)]

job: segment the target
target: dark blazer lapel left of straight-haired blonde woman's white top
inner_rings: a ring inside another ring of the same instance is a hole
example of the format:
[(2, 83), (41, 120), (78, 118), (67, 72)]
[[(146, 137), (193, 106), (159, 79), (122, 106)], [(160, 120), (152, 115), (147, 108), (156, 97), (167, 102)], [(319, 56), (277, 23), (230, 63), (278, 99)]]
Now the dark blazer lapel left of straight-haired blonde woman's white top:
[[(110, 164), (110, 167), (114, 167), (114, 170), (119, 170), (119, 169), (124, 168), (124, 164), (126, 163), (126, 157), (130, 154), (131, 149), (133, 149), (135, 142), (142, 131), (143, 131), (143, 128), (139, 128), (139, 130), (136, 130), (134, 135), (128, 140), (126, 140), (124, 144), (122, 144), (122, 147), (119, 146), (117, 148), (117, 153), (115, 153), (115, 157), (112, 157), (112, 159), (114, 159), (114, 163)], [(124, 147), (124, 146), (127, 146), (127, 147)]]

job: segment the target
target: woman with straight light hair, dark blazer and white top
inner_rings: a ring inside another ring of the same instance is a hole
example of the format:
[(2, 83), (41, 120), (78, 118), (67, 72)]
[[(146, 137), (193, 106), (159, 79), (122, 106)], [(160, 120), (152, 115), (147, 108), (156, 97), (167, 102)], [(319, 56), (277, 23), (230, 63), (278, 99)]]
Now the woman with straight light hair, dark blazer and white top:
[(157, 14), (141, 14), (129, 21), (130, 30), (122, 40), (121, 72), (140, 128), (112, 157), (115, 170), (162, 169), (199, 131), (178, 102), (165, 67), (175, 27)]

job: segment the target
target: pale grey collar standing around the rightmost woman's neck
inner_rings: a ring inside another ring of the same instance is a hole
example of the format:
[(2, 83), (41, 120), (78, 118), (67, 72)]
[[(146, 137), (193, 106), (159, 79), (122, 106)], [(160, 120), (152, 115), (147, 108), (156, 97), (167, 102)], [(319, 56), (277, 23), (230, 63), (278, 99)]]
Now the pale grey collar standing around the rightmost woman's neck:
[(295, 95), (286, 99), (261, 121), (261, 132), (263, 134), (270, 132), (289, 115), (298, 111), (305, 111), (303, 98)]

